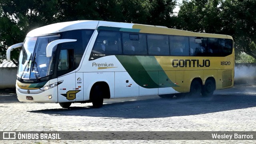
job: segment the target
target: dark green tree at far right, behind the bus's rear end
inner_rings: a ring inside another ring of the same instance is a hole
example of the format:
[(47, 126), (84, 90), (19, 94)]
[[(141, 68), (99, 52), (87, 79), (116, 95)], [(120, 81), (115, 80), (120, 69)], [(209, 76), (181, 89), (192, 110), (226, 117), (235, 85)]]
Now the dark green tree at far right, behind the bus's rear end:
[(233, 36), (238, 53), (256, 59), (256, 1), (225, 0), (221, 8), (223, 31)]

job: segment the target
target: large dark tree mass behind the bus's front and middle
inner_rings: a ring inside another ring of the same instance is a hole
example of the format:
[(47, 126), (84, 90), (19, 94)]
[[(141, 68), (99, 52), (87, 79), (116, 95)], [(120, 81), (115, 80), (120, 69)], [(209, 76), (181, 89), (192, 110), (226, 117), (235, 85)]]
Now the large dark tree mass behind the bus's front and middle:
[[(172, 27), (176, 0), (0, 0), (0, 60), (35, 28), (72, 20), (106, 20)], [(12, 50), (17, 63), (19, 50)]]

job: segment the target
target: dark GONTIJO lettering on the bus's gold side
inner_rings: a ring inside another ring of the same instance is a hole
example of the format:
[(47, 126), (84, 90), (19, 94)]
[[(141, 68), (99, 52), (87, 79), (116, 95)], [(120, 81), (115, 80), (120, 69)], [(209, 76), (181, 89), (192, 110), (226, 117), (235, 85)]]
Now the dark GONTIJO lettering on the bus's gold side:
[(172, 60), (172, 67), (210, 67), (210, 60)]

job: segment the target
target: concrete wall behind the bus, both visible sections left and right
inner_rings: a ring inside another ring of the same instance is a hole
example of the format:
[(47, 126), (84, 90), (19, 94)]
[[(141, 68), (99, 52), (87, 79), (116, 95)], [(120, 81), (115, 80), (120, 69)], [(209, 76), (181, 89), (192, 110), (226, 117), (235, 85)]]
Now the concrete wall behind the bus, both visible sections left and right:
[[(15, 88), (16, 67), (0, 67), (0, 89)], [(235, 84), (256, 84), (256, 64), (235, 64)]]

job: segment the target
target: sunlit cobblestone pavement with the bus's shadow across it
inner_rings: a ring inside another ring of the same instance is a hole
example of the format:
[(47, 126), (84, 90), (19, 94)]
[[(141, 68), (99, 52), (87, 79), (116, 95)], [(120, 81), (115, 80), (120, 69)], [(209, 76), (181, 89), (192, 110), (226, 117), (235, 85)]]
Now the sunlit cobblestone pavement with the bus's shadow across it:
[[(0, 131), (256, 131), (256, 85), (218, 90), (212, 98), (141, 96), (92, 104), (18, 102), (0, 94)], [(2, 140), (0, 143), (256, 143), (252, 140)]]

